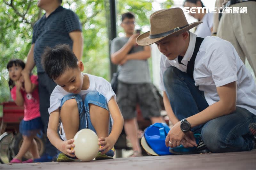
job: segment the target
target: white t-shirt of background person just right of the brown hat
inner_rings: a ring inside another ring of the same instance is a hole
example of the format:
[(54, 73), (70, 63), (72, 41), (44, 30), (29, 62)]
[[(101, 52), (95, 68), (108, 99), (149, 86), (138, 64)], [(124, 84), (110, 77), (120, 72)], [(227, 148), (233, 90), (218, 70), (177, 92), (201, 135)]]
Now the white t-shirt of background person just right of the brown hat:
[(195, 34), (198, 37), (205, 38), (211, 36), (211, 28), (213, 26), (213, 13), (206, 13), (202, 19), (203, 23), (196, 26)]

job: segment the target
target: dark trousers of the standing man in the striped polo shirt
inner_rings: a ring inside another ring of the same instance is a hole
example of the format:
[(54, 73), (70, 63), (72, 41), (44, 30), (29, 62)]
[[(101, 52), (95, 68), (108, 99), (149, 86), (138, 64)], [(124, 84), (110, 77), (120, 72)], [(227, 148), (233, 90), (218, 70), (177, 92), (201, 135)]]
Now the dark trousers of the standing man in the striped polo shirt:
[[(40, 100), (40, 114), (44, 124), (44, 133), (46, 134), (49, 122), (48, 108), (50, 107), (50, 96), (56, 83), (49, 78), (46, 73), (38, 73), (38, 91)], [(50, 156), (57, 154), (57, 149), (50, 143), (47, 138), (45, 143), (45, 151)]]

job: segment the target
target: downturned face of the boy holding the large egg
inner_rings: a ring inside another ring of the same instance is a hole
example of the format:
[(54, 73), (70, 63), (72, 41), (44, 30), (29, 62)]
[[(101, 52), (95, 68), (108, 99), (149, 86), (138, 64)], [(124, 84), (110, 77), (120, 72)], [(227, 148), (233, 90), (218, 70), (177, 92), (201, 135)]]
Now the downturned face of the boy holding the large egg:
[(83, 76), (81, 74), (81, 71), (83, 70), (84, 65), (79, 61), (77, 68), (69, 68), (53, 81), (57, 83), (57, 85), (60, 85), (66, 92), (78, 94), (83, 86)]

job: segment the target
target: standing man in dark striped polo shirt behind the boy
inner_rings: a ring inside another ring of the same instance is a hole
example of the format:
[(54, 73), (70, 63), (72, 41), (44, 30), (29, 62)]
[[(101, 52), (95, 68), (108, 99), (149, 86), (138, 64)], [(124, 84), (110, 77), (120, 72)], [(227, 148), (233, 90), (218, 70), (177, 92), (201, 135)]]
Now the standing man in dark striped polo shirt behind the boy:
[[(46, 46), (68, 44), (78, 60), (83, 54), (82, 27), (77, 15), (61, 6), (62, 0), (38, 0), (37, 6), (45, 10), (45, 14), (33, 27), (32, 45), (28, 52), (25, 70), (31, 72), (36, 65), (38, 74), (38, 89), (40, 113), (44, 123), (44, 133), (47, 131), (50, 106), (50, 96), (56, 84), (50, 79), (41, 64), (41, 55)], [(46, 153), (56, 155), (56, 149), (49, 140), (46, 143)]]

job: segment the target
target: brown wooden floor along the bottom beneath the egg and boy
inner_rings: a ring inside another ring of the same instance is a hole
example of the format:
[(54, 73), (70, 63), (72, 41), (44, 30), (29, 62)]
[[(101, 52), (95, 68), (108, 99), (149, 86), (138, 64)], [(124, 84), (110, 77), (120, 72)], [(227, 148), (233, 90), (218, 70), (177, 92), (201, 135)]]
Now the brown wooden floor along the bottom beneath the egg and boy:
[(116, 158), (90, 162), (45, 162), (30, 164), (1, 164), (0, 169), (256, 169), (256, 150), (247, 152), (210, 153), (197, 155), (147, 156)]

